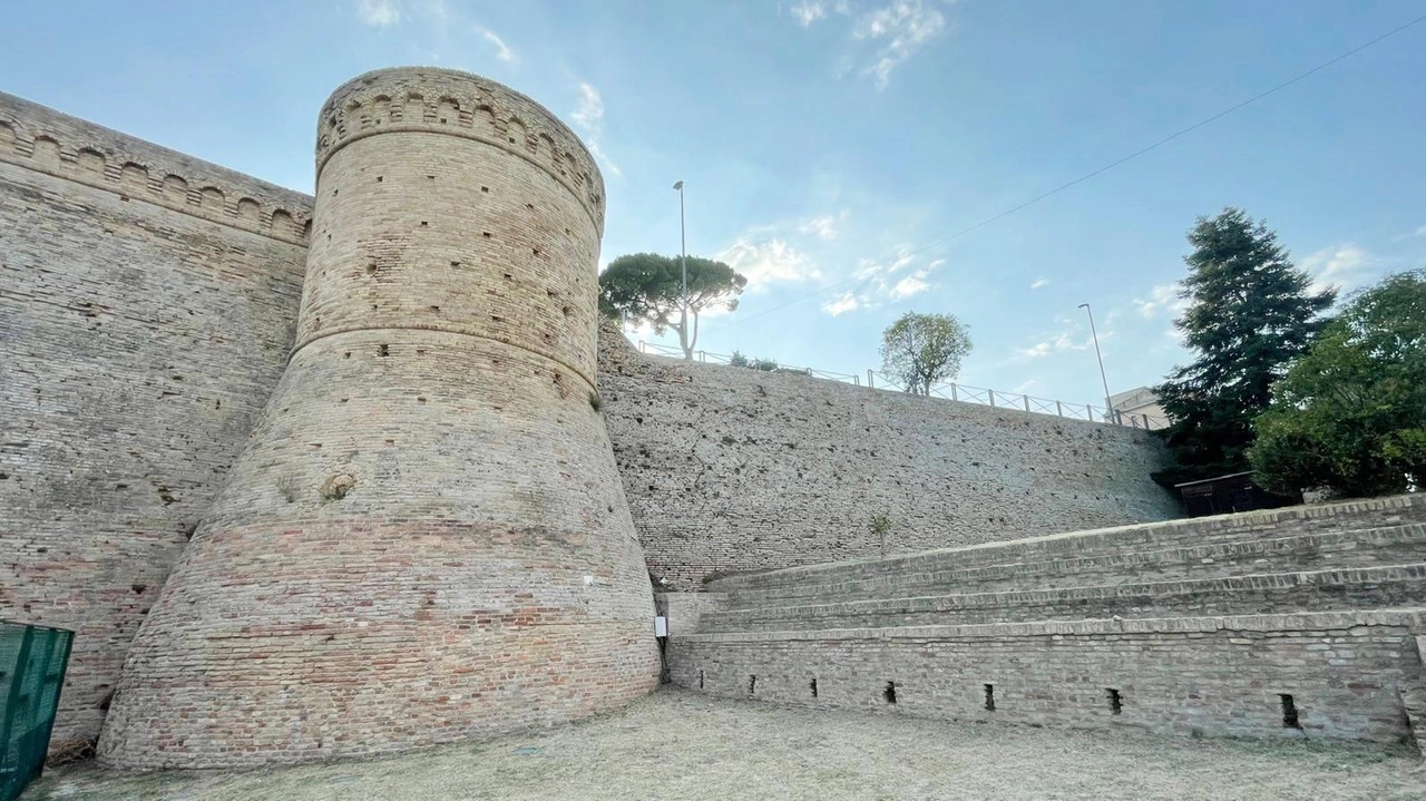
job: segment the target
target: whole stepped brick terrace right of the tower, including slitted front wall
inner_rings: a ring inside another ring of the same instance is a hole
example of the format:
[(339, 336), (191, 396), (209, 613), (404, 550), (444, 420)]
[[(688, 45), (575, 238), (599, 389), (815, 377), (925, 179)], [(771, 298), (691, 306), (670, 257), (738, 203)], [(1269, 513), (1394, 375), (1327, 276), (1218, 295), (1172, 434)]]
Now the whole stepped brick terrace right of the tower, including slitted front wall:
[(1423, 519), (1422, 496), (1303, 506), (733, 576), (692, 596), (703, 603), (659, 600), (673, 680), (722, 696), (1389, 743), (1426, 697)]

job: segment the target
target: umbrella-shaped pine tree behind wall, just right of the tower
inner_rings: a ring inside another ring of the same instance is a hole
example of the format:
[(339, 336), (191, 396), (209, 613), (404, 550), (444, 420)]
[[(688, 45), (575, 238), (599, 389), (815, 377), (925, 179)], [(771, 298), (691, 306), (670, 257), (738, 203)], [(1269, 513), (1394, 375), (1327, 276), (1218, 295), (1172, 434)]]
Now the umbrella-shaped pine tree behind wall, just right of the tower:
[[(679, 257), (629, 254), (609, 262), (599, 274), (599, 311), (619, 319), (647, 324), (655, 334), (679, 334), (683, 358), (693, 358), (699, 341), (699, 315), (709, 309), (737, 308), (747, 278), (713, 259), (689, 257), (689, 298), (683, 302)], [(692, 319), (690, 319), (692, 318)]]

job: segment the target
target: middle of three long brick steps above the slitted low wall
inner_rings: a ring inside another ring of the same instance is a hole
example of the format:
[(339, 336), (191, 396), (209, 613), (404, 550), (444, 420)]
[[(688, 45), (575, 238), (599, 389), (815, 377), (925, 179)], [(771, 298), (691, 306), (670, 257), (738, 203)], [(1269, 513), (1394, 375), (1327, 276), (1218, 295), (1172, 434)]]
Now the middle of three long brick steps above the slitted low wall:
[(1141, 552), (1119, 550), (1072, 559), (1010, 562), (836, 583), (744, 589), (729, 594), (726, 609), (890, 600), (953, 591), (1128, 584), (1328, 567), (1373, 567), (1410, 563), (1423, 556), (1426, 556), (1426, 523), (1412, 523), (1360, 532), (1323, 532)]

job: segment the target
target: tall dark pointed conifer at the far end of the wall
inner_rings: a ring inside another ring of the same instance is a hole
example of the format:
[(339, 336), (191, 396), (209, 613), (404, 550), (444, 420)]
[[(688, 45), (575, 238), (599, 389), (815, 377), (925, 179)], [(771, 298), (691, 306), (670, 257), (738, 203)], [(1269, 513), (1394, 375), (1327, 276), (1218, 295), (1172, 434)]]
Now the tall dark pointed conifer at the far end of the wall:
[(1313, 294), (1276, 234), (1236, 208), (1199, 217), (1188, 242), (1194, 252), (1184, 257), (1179, 292), (1188, 309), (1174, 325), (1198, 358), (1155, 389), (1171, 420), (1161, 433), (1175, 465), (1154, 477), (1168, 486), (1248, 470), (1253, 418), (1336, 298), (1336, 289)]

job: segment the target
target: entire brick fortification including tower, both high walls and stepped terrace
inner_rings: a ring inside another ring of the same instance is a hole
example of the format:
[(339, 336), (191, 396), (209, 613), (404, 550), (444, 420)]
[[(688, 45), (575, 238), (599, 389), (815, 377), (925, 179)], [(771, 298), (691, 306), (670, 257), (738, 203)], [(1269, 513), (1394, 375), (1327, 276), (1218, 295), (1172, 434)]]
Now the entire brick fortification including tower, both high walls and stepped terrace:
[(1422, 496), (1172, 520), (1144, 432), (647, 358), (535, 101), (381, 70), (317, 128), (314, 198), (0, 94), (0, 616), (77, 633), (57, 747), (578, 720), (655, 686), (650, 582), (693, 590), (674, 681), (730, 697), (1426, 727)]

